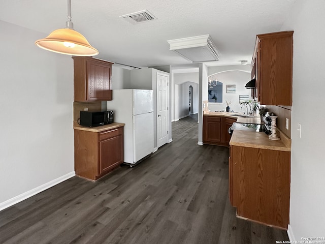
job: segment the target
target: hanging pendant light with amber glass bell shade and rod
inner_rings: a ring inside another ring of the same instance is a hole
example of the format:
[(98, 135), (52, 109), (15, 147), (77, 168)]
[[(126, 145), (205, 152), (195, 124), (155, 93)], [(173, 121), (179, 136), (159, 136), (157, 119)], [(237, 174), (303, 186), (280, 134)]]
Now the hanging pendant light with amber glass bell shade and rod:
[(51, 52), (74, 56), (94, 56), (99, 51), (92, 47), (87, 39), (76, 32), (71, 21), (71, 0), (68, 0), (68, 21), (66, 28), (56, 29), (44, 39), (37, 40), (35, 44)]

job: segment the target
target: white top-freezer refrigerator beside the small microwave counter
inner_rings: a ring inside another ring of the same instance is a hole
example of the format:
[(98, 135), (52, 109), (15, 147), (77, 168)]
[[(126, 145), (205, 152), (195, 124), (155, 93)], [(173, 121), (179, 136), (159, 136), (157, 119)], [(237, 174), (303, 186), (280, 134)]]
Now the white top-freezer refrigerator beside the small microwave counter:
[(153, 152), (153, 90), (113, 90), (107, 110), (114, 122), (124, 123), (124, 163), (131, 166)]

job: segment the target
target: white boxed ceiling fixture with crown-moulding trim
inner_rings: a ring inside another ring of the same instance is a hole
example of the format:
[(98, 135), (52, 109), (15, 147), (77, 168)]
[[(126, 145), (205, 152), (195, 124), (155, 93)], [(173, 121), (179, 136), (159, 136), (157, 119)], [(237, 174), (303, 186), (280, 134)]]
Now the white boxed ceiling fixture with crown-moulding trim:
[(210, 35), (181, 38), (167, 41), (170, 49), (191, 63), (219, 60), (219, 53)]

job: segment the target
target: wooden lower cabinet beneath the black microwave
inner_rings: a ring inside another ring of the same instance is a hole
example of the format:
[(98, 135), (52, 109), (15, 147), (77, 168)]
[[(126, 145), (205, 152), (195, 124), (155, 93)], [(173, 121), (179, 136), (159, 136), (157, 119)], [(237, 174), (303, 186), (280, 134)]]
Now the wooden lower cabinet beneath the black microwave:
[(123, 163), (123, 127), (103, 132), (75, 130), (76, 174), (96, 180)]

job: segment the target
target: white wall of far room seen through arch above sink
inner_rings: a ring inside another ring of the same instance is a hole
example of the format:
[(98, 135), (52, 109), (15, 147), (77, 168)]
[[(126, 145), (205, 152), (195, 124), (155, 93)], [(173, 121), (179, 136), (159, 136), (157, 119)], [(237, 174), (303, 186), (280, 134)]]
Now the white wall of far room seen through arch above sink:
[[(214, 75), (218, 81), (222, 82), (222, 104), (220, 103), (209, 103), (209, 110), (211, 111), (221, 111), (225, 110), (227, 104), (225, 101), (232, 101), (230, 105), (231, 110), (235, 112), (245, 112), (246, 108), (243, 107), (241, 110), (241, 105), (239, 105), (239, 95), (249, 95), (251, 98), (251, 90), (245, 88), (245, 84), (250, 81), (250, 73), (234, 70), (234, 71), (224, 71)], [(226, 85), (236, 85), (236, 93), (226, 93)]]

